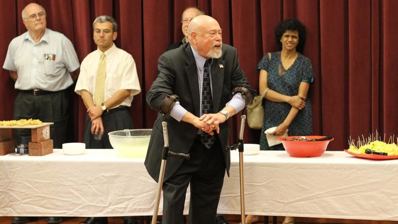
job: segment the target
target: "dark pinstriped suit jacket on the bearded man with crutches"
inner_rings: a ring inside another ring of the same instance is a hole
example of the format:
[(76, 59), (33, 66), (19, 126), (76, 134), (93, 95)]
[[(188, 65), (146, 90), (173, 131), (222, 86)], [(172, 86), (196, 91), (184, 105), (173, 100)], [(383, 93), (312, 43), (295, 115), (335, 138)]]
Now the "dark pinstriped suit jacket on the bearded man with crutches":
[[(148, 105), (160, 111), (160, 105), (166, 95), (177, 94), (180, 104), (186, 110), (200, 115), (199, 83), (197, 69), (192, 49), (189, 43), (172, 49), (160, 56), (158, 61), (160, 73), (153, 82), (151, 89), (146, 94)], [(244, 72), (239, 67), (237, 51), (228, 44), (222, 44), (222, 56), (214, 59), (211, 66), (213, 113), (217, 113), (231, 99), (231, 91), (235, 87), (246, 87), (248, 85)], [(254, 91), (252, 90), (252, 94)], [(171, 116), (166, 116), (168, 125), (169, 150), (177, 153), (187, 154), (197, 135), (197, 128), (187, 122), (178, 122)], [(228, 145), (228, 121), (220, 124), (218, 138), (221, 143), (227, 173), (230, 168), (230, 152), (224, 148)], [(145, 158), (145, 167), (155, 181), (159, 179), (162, 150), (164, 146), (162, 132), (162, 117), (158, 117), (154, 123), (148, 152)], [(166, 181), (181, 165), (181, 158), (167, 158), (164, 181)]]

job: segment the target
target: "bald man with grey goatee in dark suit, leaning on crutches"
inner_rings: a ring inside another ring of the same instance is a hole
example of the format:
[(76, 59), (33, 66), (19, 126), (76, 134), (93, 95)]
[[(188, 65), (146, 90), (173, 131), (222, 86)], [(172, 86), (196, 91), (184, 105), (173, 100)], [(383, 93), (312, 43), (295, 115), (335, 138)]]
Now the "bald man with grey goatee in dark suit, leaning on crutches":
[[(188, 184), (188, 223), (215, 223), (223, 178), (230, 168), (230, 152), (224, 150), (229, 135), (226, 121), (254, 95), (239, 67), (236, 49), (222, 44), (221, 28), (214, 18), (196, 16), (189, 23), (188, 33), (189, 43), (159, 58), (160, 73), (146, 95), (151, 108), (170, 115), (166, 116), (169, 150), (190, 154), (189, 160), (167, 159), (163, 224), (183, 224)], [(242, 91), (231, 98), (234, 89)], [(172, 100), (172, 95), (179, 101)], [(159, 179), (164, 145), (161, 122), (159, 114), (145, 158), (146, 169), (155, 181)]]

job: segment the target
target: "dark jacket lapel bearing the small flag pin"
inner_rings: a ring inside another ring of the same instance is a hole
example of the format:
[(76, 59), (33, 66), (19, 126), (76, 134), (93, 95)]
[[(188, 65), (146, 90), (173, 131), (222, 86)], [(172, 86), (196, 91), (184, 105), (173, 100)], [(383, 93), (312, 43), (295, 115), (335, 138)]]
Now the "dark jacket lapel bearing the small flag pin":
[(222, 86), (224, 80), (224, 63), (221, 59), (213, 59), (211, 65), (211, 85), (213, 92), (213, 112), (218, 112), (221, 103)]

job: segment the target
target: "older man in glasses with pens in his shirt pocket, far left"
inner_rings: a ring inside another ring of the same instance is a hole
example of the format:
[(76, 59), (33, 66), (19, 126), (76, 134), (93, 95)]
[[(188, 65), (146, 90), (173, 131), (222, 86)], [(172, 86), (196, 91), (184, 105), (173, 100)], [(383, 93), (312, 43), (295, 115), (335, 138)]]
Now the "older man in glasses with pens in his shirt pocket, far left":
[[(62, 148), (68, 127), (68, 87), (79, 75), (79, 59), (73, 45), (63, 34), (46, 28), (42, 6), (31, 3), (22, 10), (27, 32), (15, 37), (8, 47), (3, 68), (10, 71), (18, 95), (14, 119), (40, 119), (54, 122), (50, 137), (54, 148)], [(16, 130), (16, 142), (31, 141), (29, 129)], [(28, 217), (14, 217), (12, 223), (29, 222)], [(60, 223), (61, 217), (49, 217), (47, 223)]]

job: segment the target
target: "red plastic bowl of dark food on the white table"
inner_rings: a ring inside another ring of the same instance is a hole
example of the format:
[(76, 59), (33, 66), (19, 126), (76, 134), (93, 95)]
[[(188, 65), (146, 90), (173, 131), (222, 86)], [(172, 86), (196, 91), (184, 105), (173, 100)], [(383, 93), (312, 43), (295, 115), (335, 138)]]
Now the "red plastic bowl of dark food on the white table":
[[(292, 157), (317, 157), (325, 153), (326, 148), (330, 141), (334, 138), (325, 141), (289, 141), (292, 138), (302, 138), (303, 136), (288, 136), (279, 137), (278, 140), (282, 141), (283, 147), (286, 152)], [(326, 136), (311, 135), (305, 136), (307, 139), (323, 138)], [(283, 140), (287, 139), (287, 140)]]

